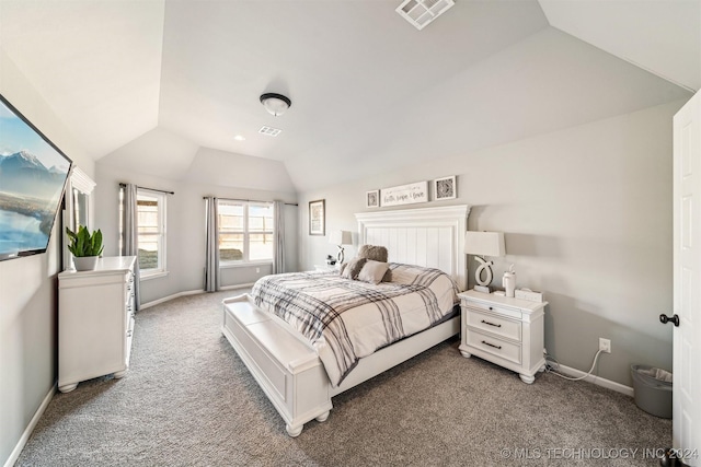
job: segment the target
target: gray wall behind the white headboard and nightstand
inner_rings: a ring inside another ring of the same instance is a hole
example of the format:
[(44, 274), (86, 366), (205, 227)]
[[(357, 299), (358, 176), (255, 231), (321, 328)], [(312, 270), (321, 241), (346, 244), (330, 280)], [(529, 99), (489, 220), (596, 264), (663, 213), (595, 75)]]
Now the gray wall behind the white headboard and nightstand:
[[(308, 234), (310, 200), (325, 199), (326, 232), (357, 232), (353, 214), (367, 210), (367, 190), (457, 175), (458, 199), (414, 207), (468, 203), (469, 230), (505, 232), (494, 285), (514, 264), (517, 287), (544, 292), (549, 353), (588, 371), (605, 337), (612, 353), (599, 359), (598, 375), (631, 386), (632, 363), (670, 370), (671, 328), (657, 316), (671, 310), (671, 117), (682, 104), (301, 194), (300, 266), (336, 250)], [(471, 264), (470, 287), (473, 271)]]

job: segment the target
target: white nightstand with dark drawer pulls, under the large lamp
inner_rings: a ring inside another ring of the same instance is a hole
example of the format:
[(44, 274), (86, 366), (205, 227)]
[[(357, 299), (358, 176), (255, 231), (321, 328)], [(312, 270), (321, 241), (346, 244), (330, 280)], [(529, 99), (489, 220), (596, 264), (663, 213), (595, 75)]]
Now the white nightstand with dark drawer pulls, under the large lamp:
[(531, 384), (544, 367), (543, 316), (537, 303), (473, 290), (459, 293), (460, 352), (515, 371)]

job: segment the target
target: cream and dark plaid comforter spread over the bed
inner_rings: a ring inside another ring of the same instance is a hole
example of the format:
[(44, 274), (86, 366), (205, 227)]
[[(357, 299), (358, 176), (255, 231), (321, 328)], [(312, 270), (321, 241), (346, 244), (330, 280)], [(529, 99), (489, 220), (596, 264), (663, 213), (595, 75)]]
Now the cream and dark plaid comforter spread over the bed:
[(400, 264), (390, 268), (392, 282), (377, 285), (337, 272), (266, 276), (252, 296), (311, 342), (335, 387), (359, 359), (429, 328), (458, 303), (458, 288), (445, 272)]

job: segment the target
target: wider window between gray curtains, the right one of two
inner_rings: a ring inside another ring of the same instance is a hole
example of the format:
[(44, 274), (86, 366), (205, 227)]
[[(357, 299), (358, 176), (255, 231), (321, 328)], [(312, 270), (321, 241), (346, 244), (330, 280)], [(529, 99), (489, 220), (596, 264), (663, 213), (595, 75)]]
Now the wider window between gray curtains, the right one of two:
[(219, 200), (219, 261), (273, 260), (273, 203)]

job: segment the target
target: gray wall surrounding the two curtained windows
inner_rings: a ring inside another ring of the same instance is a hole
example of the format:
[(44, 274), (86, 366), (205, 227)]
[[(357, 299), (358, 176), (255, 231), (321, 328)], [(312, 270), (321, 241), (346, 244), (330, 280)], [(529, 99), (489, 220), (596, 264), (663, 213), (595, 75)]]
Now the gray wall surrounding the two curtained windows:
[[(204, 196), (220, 198), (255, 199), (272, 201), (281, 199), (297, 202), (296, 194), (268, 190), (241, 189), (171, 180), (153, 175), (139, 174), (123, 167), (96, 164), (95, 227), (104, 235), (104, 254), (118, 255), (119, 219), (118, 185), (135, 183), (138, 186), (174, 191), (166, 201), (166, 269), (168, 276), (141, 281), (141, 303), (147, 304), (180, 292), (202, 290), (205, 270), (205, 201)], [(297, 207), (286, 207), (286, 260), (290, 270), (297, 269)], [(257, 271), (256, 271), (257, 269)], [(269, 267), (251, 266), (222, 269), (222, 287), (246, 284), (271, 273)]]

